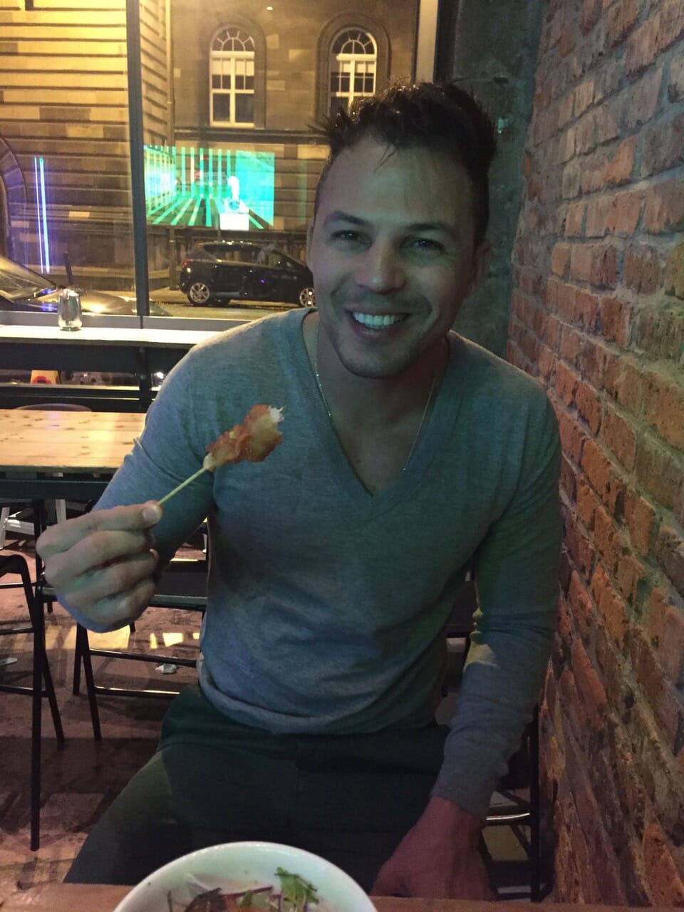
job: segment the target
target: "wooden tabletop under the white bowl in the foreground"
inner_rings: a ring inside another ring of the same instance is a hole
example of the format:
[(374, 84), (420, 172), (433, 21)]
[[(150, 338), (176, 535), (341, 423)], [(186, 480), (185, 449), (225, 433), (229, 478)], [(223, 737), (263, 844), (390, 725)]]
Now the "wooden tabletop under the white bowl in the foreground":
[[(0, 912), (113, 912), (129, 892), (128, 886), (87, 886), (56, 884), (35, 886), (29, 890), (0, 893)], [(3, 901), (4, 900), (4, 901)], [(510, 912), (539, 912), (551, 908), (554, 912), (627, 912), (619, 906), (585, 906), (565, 904), (507, 902), (505, 905), (474, 902), (464, 899), (398, 899), (393, 896), (374, 896), (378, 912), (492, 912), (506, 909)], [(650, 907), (649, 912), (675, 912), (665, 907)]]

